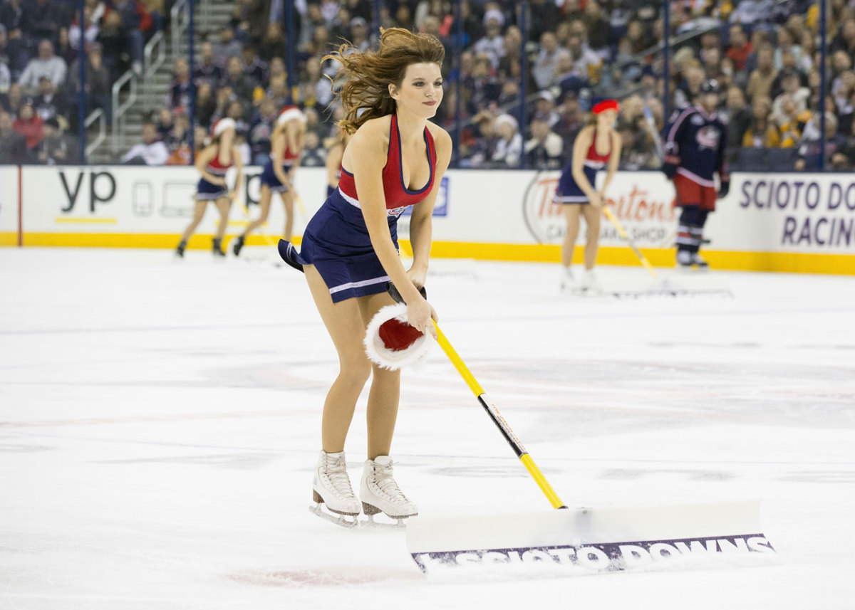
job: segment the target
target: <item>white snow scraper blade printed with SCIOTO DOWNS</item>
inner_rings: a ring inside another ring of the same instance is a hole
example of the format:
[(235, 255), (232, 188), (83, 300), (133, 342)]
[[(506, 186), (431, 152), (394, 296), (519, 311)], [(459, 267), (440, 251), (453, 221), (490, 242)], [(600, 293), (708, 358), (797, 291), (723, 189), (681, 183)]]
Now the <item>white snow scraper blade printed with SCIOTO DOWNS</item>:
[(759, 504), (416, 517), (407, 525), (407, 548), (422, 572), (504, 563), (610, 572), (711, 554), (774, 553), (760, 528)]

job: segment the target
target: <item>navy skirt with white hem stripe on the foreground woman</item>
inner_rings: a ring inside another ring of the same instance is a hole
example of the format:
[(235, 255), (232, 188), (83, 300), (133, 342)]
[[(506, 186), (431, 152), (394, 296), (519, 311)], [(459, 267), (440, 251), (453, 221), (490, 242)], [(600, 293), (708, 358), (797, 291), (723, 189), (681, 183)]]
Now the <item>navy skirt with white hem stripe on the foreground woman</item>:
[[(398, 216), (388, 216), (392, 242), (398, 249)], [(297, 255), (314, 265), (333, 302), (386, 291), (389, 276), (371, 245), (363, 211), (347, 202), (338, 189), (309, 221)]]

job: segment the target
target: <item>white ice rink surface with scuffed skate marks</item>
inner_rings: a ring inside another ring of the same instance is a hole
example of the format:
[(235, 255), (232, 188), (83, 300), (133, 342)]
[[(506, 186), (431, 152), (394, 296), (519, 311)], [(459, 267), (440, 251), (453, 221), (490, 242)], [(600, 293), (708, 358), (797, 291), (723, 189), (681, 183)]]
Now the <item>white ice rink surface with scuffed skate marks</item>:
[[(0, 608), (855, 607), (855, 279), (665, 271), (734, 298), (616, 300), (560, 295), (555, 265), (433, 261), (445, 334), (565, 502), (761, 498), (778, 554), (429, 578), (402, 531), (308, 512), (333, 345), (302, 275), (245, 254), (0, 249)], [(402, 385), (422, 514), (551, 510), (439, 349)]]

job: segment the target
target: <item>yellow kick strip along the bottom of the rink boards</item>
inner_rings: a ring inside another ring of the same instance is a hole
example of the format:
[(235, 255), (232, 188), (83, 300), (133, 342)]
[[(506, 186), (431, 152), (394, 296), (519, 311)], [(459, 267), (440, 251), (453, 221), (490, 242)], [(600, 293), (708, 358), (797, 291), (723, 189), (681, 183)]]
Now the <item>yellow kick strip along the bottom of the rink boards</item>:
[[(228, 241), (233, 236), (227, 236)], [(210, 235), (194, 235), (188, 249), (209, 249)], [(62, 246), (83, 248), (166, 248), (178, 245), (179, 236), (144, 233), (24, 233), (25, 246)], [(270, 245), (278, 238), (252, 235), (247, 245)], [(300, 238), (293, 242), (299, 244)], [(0, 246), (15, 246), (15, 232), (0, 233)], [(399, 242), (404, 255), (412, 252), (410, 241)], [(644, 255), (654, 267), (674, 267), (674, 250), (669, 248), (644, 249)], [(431, 256), (435, 258), (471, 258), (481, 261), (561, 261), (561, 246), (539, 243), (468, 243), (433, 242)], [(796, 252), (741, 252), (704, 250), (704, 256), (714, 269), (730, 271), (775, 271), (784, 273), (827, 273), (855, 275), (855, 255), (805, 254)], [(577, 247), (574, 262), (582, 261), (582, 248)], [(639, 265), (632, 250), (626, 247), (600, 247), (597, 261), (601, 265)]]

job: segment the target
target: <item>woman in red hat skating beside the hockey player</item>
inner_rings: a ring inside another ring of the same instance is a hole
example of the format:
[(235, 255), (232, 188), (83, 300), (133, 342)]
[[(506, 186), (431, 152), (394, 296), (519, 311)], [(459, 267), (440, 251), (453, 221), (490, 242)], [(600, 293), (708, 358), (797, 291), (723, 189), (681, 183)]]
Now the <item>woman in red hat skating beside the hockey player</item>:
[[(584, 216), (587, 225), (585, 273), (578, 288), (591, 292), (600, 291), (593, 267), (597, 262), (599, 218), (605, 202), (605, 191), (621, 159), (621, 138), (615, 130), (620, 104), (615, 100), (604, 100), (592, 110), (593, 118), (576, 136), (573, 156), (561, 172), (555, 193), (555, 202), (562, 204), (567, 220), (567, 234), (561, 248), (562, 290), (577, 287), (570, 266), (579, 235), (579, 219)], [(606, 174), (603, 185), (597, 189), (597, 172), (600, 169), (605, 169)]]

